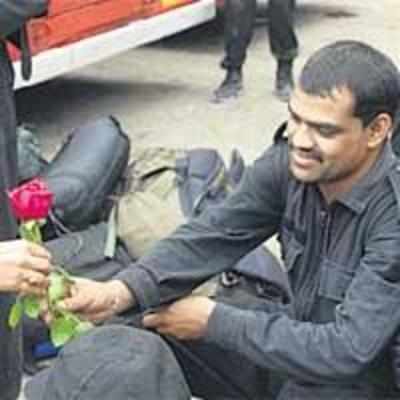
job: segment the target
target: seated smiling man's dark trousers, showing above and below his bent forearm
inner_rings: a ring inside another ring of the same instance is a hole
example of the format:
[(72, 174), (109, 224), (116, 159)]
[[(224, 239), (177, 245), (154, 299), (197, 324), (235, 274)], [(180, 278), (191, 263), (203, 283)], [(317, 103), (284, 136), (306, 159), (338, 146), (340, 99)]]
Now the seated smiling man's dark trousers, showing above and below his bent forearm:
[[(256, 289), (256, 290), (255, 290)], [(266, 295), (265, 295), (266, 294)], [(264, 295), (248, 279), (231, 287), (222, 287), (216, 300), (241, 309), (265, 312), (281, 310), (293, 315), (290, 305)], [(394, 400), (352, 385), (313, 385), (290, 380), (279, 373), (263, 369), (241, 354), (217, 345), (196, 341), (164, 340), (174, 352), (191, 393), (204, 400)], [(167, 368), (167, 366), (165, 366)], [(156, 381), (156, 380), (155, 380)]]

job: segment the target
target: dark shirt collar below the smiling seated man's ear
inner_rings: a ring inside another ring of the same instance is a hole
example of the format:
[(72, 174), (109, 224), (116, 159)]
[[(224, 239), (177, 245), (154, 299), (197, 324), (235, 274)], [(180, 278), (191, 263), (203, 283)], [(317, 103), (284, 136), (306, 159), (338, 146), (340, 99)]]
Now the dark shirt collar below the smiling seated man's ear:
[(354, 187), (339, 196), (337, 201), (344, 204), (357, 214), (361, 213), (371, 196), (374, 195), (373, 187), (382, 178), (388, 175), (397, 158), (392, 150), (392, 145), (388, 142), (382, 149), (382, 154), (372, 166), (370, 171)]

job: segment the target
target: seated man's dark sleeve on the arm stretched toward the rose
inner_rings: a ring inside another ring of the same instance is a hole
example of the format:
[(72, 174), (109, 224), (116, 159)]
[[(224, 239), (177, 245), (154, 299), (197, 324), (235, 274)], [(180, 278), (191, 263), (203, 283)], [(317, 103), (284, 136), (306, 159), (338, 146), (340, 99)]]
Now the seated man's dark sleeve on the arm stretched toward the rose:
[(160, 241), (120, 273), (142, 309), (170, 302), (219, 272), (273, 235), (285, 208), (287, 146), (272, 146), (249, 167), (229, 198)]

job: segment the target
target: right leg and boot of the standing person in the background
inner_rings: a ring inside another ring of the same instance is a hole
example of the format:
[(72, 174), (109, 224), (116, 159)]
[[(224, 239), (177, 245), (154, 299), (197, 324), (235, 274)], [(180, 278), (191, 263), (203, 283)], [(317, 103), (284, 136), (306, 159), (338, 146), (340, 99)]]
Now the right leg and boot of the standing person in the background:
[(284, 101), (293, 89), (293, 61), (298, 54), (294, 8), (295, 0), (269, 0), (269, 42), (278, 64), (275, 92)]

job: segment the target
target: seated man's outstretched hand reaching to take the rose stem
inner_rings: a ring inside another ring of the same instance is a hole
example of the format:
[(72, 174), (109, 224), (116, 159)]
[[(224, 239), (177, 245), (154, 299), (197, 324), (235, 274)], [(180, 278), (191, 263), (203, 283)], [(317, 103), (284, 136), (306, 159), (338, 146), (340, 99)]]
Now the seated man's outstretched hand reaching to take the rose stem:
[(130, 290), (121, 281), (96, 282), (83, 278), (74, 281), (70, 295), (60, 306), (91, 322), (103, 322), (134, 304)]

